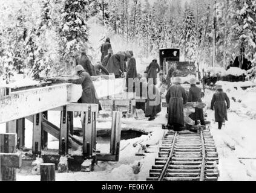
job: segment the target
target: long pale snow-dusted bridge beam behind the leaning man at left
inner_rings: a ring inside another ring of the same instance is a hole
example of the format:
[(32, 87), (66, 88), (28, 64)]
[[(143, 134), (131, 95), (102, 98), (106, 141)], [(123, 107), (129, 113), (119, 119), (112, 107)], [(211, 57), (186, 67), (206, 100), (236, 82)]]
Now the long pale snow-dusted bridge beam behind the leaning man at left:
[[(93, 83), (99, 98), (122, 93), (125, 90), (125, 78), (93, 81)], [(77, 102), (81, 95), (82, 86), (70, 83), (11, 92), (10, 95), (0, 98), (0, 124)]]

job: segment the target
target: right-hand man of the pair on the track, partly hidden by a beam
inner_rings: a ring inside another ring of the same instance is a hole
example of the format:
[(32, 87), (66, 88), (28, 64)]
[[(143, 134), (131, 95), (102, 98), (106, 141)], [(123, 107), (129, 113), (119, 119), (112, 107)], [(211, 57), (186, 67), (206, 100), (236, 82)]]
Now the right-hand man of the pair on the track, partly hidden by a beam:
[[(189, 88), (188, 102), (202, 103), (202, 89), (196, 86), (195, 78), (192, 77), (189, 83), (191, 87)], [(189, 117), (195, 121), (195, 125), (197, 125), (197, 120), (200, 120), (201, 125), (205, 125), (203, 109), (195, 108), (195, 112), (189, 115)]]

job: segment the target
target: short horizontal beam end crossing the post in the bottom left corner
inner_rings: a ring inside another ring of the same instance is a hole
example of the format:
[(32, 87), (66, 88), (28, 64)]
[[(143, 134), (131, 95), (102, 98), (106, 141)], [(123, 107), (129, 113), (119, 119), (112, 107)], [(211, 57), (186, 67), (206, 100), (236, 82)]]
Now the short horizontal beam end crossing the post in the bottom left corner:
[(0, 153), (1, 166), (21, 168), (22, 155), (17, 153)]

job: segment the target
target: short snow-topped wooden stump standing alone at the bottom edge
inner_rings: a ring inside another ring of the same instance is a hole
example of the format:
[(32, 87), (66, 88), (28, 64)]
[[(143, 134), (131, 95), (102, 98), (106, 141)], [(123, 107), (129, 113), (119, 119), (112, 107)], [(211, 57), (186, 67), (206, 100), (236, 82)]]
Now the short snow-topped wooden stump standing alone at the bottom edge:
[(55, 181), (55, 163), (41, 163), (41, 181)]

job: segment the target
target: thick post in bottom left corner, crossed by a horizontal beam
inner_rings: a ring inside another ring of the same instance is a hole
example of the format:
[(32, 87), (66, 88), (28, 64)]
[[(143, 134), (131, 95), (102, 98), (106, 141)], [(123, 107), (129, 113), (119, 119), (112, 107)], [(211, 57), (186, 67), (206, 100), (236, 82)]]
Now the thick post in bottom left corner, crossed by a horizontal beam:
[[(16, 153), (17, 134), (16, 133), (1, 133), (0, 134), (0, 152), (1, 153)], [(1, 180), (16, 181), (16, 168), (4, 166), (1, 163)]]

